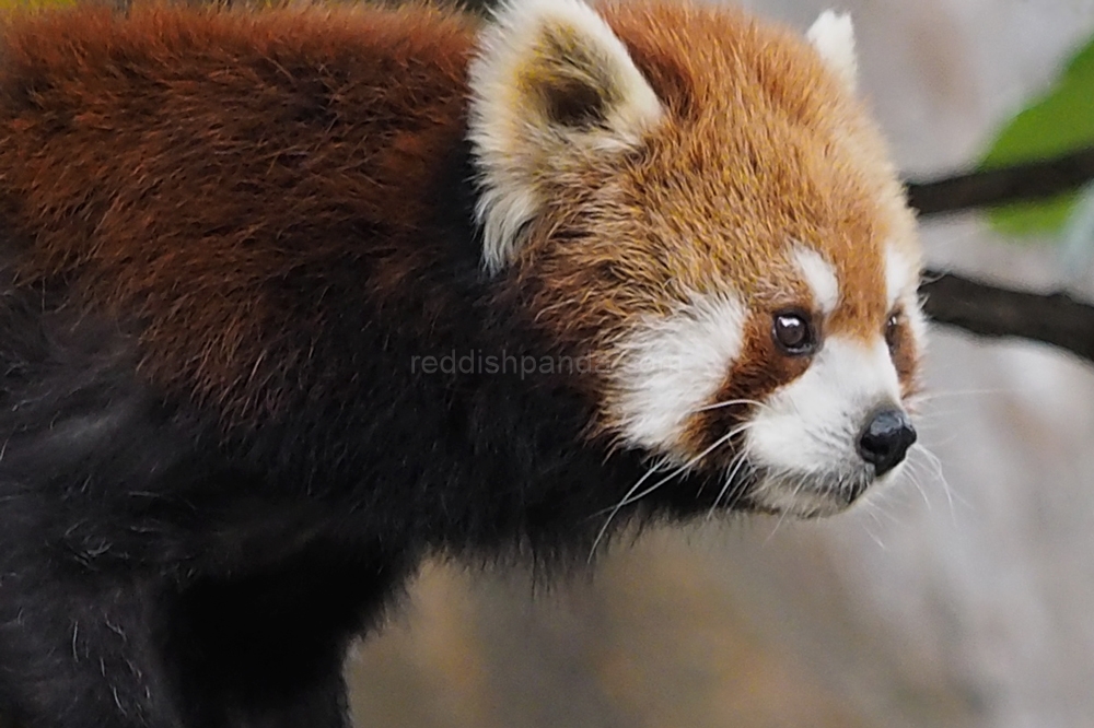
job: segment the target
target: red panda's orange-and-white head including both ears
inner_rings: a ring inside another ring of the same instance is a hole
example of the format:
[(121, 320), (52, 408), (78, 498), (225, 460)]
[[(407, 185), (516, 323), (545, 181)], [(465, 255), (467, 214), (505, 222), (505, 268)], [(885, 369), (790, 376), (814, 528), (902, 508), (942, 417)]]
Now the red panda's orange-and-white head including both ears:
[(482, 263), (596, 362), (592, 436), (802, 516), (896, 472), (920, 253), (850, 21), (525, 0), (479, 43)]

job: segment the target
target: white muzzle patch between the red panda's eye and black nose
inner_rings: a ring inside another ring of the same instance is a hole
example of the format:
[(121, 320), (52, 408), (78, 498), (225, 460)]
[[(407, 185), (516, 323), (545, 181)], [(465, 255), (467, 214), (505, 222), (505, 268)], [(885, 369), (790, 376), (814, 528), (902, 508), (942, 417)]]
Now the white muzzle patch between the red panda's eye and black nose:
[(745, 437), (748, 457), (798, 474), (861, 469), (856, 444), (866, 415), (899, 402), (900, 383), (881, 337), (869, 345), (833, 337), (805, 374), (756, 411)]

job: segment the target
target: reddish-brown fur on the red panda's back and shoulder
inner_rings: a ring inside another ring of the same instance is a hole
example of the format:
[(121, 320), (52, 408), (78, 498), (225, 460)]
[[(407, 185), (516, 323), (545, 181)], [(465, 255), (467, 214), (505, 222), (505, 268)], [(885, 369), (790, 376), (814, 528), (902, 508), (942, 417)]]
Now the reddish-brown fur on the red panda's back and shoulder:
[(361, 282), (381, 298), (428, 262), (421, 190), (463, 134), (472, 43), (468, 22), (422, 9), (10, 20), (0, 200), (35, 233), (21, 274), (73, 275), (85, 305), (136, 313), (144, 371), (172, 388), (236, 416), (276, 408), (264, 385), (306, 343), (279, 336), (268, 284), (352, 239), (309, 226), (387, 231)]

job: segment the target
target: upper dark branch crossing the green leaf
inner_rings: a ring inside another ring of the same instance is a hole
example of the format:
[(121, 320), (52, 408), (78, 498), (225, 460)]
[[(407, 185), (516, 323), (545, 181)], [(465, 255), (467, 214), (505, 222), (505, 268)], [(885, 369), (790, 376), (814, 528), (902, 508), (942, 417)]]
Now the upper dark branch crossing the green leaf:
[(999, 169), (909, 183), (909, 203), (924, 215), (1026, 202), (1070, 192), (1094, 179), (1094, 148)]

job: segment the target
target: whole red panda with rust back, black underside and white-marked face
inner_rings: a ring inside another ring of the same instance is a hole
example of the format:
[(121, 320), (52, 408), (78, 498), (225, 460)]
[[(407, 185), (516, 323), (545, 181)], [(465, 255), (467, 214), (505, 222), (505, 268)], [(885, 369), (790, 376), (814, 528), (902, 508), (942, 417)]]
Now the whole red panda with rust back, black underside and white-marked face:
[(836, 513), (916, 438), (850, 22), (521, 0), (0, 30), (0, 713), (345, 726), (420, 560)]

